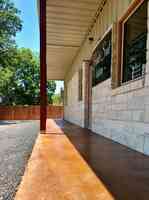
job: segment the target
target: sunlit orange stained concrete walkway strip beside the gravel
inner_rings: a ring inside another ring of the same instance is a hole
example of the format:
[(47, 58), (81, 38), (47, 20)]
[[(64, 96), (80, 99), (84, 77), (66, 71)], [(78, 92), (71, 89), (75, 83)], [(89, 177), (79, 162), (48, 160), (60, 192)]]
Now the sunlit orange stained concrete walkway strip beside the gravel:
[(47, 131), (37, 138), (15, 200), (113, 200), (53, 120)]

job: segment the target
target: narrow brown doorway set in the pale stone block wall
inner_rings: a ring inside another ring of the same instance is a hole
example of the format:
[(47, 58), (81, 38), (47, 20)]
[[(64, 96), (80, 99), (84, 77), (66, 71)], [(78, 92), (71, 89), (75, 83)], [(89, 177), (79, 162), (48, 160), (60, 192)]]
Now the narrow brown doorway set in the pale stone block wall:
[(90, 60), (83, 61), (84, 71), (84, 127), (89, 128), (91, 123), (91, 82), (92, 72)]

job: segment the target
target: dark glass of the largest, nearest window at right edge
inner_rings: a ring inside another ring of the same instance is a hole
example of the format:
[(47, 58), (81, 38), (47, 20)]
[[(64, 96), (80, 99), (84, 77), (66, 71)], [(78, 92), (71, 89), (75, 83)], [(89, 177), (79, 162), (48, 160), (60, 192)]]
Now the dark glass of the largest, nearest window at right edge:
[(147, 44), (147, 1), (124, 23), (124, 51), (122, 82), (140, 78), (144, 74)]

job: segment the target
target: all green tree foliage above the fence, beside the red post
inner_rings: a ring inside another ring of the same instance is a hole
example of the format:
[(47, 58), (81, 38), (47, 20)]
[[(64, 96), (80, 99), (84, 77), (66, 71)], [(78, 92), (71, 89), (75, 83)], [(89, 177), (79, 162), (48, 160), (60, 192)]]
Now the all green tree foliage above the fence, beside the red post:
[[(20, 11), (10, 0), (0, 0), (0, 102), (3, 105), (40, 103), (39, 55), (30, 49), (18, 49), (16, 33), (22, 29)], [(56, 89), (47, 82), (48, 102)]]

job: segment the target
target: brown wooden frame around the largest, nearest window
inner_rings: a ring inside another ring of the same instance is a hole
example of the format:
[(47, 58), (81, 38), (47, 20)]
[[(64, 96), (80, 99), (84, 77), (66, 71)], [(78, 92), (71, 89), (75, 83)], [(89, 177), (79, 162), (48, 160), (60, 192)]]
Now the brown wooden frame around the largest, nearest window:
[(124, 67), (124, 33), (125, 33), (125, 23), (128, 21), (128, 19), (137, 11), (137, 9), (145, 2), (146, 0), (134, 0), (125, 14), (121, 17), (121, 19), (118, 22), (118, 80), (119, 84), (126, 85), (130, 82), (142, 79), (143, 76), (140, 76), (136, 79), (123, 82), (123, 67)]

